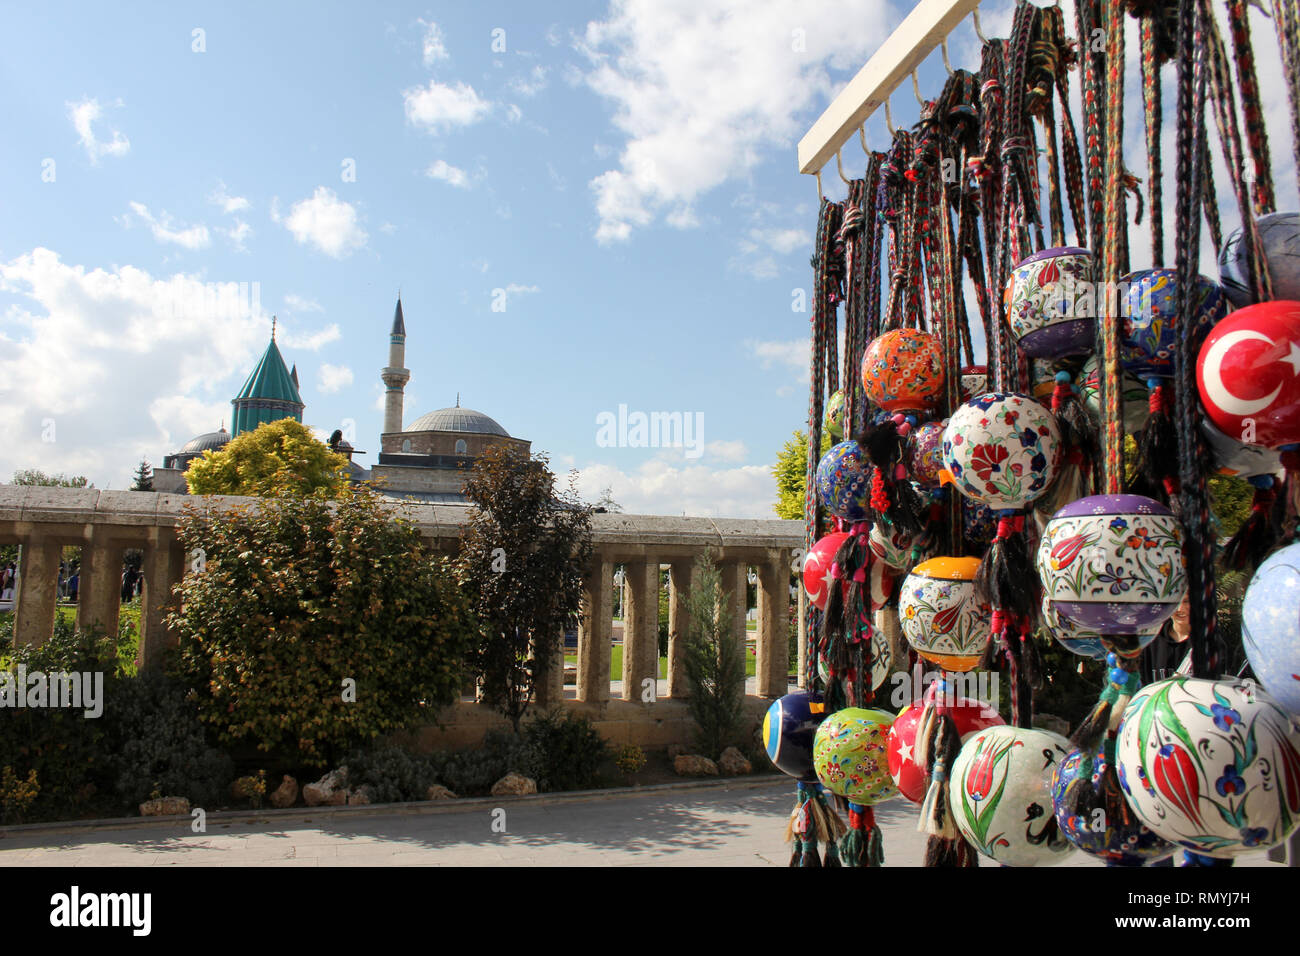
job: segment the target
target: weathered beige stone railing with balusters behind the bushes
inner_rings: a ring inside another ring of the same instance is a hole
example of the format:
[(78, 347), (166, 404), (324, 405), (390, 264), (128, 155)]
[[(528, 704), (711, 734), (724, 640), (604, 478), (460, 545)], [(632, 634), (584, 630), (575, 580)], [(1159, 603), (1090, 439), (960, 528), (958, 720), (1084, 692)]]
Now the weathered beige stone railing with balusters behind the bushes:
[[(69, 545), (81, 549), (78, 624), (116, 633), (122, 554), (126, 549), (139, 549), (143, 594), (138, 663), (142, 669), (157, 666), (162, 649), (173, 643), (165, 624), (168, 606), (174, 601), (173, 587), (188, 568), (177, 537), (185, 509), (237, 505), (256, 505), (256, 499), (0, 485), (0, 544), (22, 545), (14, 640), (40, 644), (49, 637), (60, 555)], [(386, 507), (412, 522), (437, 550), (448, 554), (456, 550), (465, 507), (407, 502), (389, 502)], [(598, 514), (593, 516), (593, 545), (578, 627), (576, 685), (566, 689), (563, 658), (556, 656), (555, 666), (537, 689), (538, 705), (563, 704), (584, 710), (618, 743), (684, 743), (689, 732), (684, 701), (685, 601), (692, 562), (710, 546), (732, 609), (732, 639), (742, 648), (750, 568), (757, 578), (755, 680), (746, 701), (748, 713), (751, 717), (760, 713), (767, 701), (786, 692), (792, 561), (794, 550), (803, 545), (800, 522)], [(627, 589), (623, 670), (611, 675), (614, 574), (619, 564)], [(656, 680), (663, 567), (668, 570), (670, 609), (666, 693)], [(612, 700), (611, 678), (621, 682)], [(497, 722), (474, 704), (462, 704), (455, 710), (442, 731), (429, 730), (428, 745), (477, 743)]]

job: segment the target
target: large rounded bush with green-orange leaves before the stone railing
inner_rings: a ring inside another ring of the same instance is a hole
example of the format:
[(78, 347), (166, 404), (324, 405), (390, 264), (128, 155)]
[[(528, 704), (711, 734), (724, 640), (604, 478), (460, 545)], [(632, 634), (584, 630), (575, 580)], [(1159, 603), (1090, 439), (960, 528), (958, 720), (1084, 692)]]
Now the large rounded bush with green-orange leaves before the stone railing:
[(224, 743), (324, 765), (458, 700), (468, 604), (374, 493), (191, 507), (181, 541), (203, 566), (169, 617), (177, 665)]

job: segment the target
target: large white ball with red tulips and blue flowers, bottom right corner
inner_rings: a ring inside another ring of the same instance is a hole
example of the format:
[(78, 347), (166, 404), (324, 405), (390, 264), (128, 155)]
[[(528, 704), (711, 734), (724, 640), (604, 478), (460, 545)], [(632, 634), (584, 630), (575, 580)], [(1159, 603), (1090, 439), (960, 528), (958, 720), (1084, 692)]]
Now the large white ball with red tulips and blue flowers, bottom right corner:
[(1266, 849), (1300, 823), (1300, 730), (1254, 682), (1148, 684), (1124, 709), (1115, 761), (1141, 821), (1195, 853)]

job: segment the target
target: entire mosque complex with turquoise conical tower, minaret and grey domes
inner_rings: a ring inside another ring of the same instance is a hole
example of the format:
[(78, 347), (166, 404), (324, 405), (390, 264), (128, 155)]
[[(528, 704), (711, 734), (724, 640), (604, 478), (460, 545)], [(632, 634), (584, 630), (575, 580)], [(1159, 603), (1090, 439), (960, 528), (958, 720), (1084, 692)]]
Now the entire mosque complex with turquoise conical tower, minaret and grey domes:
[[(367, 470), (352, 462), (354, 454), (364, 453), (343, 441), (341, 433), (332, 440), (332, 447), (348, 458), (352, 481), (368, 483), (391, 498), (464, 503), (460, 488), (465, 470), (488, 447), (506, 444), (521, 454), (530, 454), (532, 442), (511, 437), (481, 411), (462, 408), (459, 395), (455, 406), (426, 412), (403, 428), (406, 384), (411, 380), (411, 371), (406, 368), (406, 319), (400, 297), (389, 332), (389, 364), (381, 369), (380, 378), (386, 392), (378, 462)], [(291, 371), (285, 367), (276, 345), (274, 320), (266, 351), (230, 403), (234, 406), (231, 431), (226, 432), (222, 427), (195, 436), (179, 451), (166, 455), (162, 467), (153, 470), (156, 490), (185, 494), (185, 471), (195, 458), (202, 458), (205, 451), (220, 451), (231, 438), (260, 424), (285, 418), (303, 420), (306, 405), (299, 394), (298, 367)]]

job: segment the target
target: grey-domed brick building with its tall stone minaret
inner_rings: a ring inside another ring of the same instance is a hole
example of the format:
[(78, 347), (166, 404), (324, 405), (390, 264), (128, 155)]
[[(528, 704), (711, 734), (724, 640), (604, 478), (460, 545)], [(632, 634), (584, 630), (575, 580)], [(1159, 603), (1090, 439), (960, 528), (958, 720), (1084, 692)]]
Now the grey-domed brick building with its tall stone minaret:
[(481, 411), (462, 408), (459, 395), (455, 406), (426, 412), (403, 428), (404, 389), (411, 380), (404, 362), (406, 319), (398, 298), (389, 333), (389, 364), (380, 372), (387, 386), (380, 460), (369, 471), (380, 492), (394, 498), (463, 505), (465, 470), (486, 449), (504, 444), (530, 454), (532, 442), (512, 437)]

